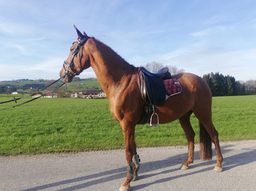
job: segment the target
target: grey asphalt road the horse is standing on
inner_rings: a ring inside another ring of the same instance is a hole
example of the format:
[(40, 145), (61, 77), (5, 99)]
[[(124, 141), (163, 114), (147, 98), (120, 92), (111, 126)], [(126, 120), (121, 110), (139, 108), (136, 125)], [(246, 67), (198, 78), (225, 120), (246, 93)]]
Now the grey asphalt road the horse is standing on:
[[(214, 147), (213, 147), (214, 148)], [(141, 148), (139, 179), (132, 191), (254, 191), (256, 140), (222, 142), (224, 171), (213, 171), (212, 161), (200, 161), (199, 146), (188, 170), (180, 170), (187, 147)], [(0, 190), (118, 190), (126, 176), (124, 150), (78, 154), (0, 157)]]

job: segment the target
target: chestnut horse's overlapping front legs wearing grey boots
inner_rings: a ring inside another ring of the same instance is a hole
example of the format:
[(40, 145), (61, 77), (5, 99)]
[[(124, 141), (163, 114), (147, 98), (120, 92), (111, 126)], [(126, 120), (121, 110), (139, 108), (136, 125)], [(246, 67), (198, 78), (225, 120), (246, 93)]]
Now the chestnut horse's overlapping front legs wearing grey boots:
[(127, 161), (127, 175), (119, 191), (129, 191), (131, 189), (130, 182), (138, 179), (138, 170), (140, 168), (140, 159), (136, 152), (136, 143), (134, 138), (135, 125), (122, 126), (124, 133), (125, 158)]

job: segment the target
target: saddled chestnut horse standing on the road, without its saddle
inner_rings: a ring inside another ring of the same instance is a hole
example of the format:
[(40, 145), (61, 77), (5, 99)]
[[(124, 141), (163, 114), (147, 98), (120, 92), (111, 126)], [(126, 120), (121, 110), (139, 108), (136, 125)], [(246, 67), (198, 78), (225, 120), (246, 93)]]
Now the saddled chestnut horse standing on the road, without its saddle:
[[(75, 27), (75, 26), (74, 26)], [(140, 167), (134, 138), (135, 126), (139, 122), (146, 102), (138, 86), (139, 69), (127, 63), (106, 44), (82, 34), (75, 27), (78, 39), (70, 48), (67, 61), (64, 61), (60, 77), (71, 82), (83, 70), (92, 67), (99, 83), (109, 98), (112, 116), (123, 129), (125, 157), (127, 161), (126, 180), (119, 191), (129, 191), (130, 182), (138, 178)], [(215, 144), (217, 163), (215, 171), (221, 172), (223, 157), (218, 132), (212, 122), (212, 94), (208, 84), (194, 74), (181, 73), (173, 76), (182, 87), (182, 92), (168, 98), (156, 106), (159, 123), (169, 123), (179, 119), (188, 141), (188, 155), (181, 169), (188, 169), (194, 160), (195, 132), (189, 118), (194, 112), (200, 124), (200, 159), (212, 159), (212, 142)], [(149, 122), (149, 121), (148, 121)]]

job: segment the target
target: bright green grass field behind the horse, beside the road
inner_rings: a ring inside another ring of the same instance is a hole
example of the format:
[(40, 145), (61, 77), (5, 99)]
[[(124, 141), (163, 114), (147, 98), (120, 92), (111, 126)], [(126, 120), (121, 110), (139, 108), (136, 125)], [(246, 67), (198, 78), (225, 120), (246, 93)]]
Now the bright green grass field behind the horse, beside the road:
[[(0, 95), (0, 102), (9, 99)], [(0, 109), (29, 99), (0, 104)], [(213, 122), (221, 141), (256, 139), (255, 117), (255, 95), (213, 97)], [(191, 124), (198, 142), (198, 120), (194, 115)], [(187, 144), (178, 121), (158, 127), (137, 125), (135, 138), (137, 147)], [(118, 148), (124, 148), (123, 132), (110, 114), (108, 99), (39, 98), (0, 110), (2, 156)]]

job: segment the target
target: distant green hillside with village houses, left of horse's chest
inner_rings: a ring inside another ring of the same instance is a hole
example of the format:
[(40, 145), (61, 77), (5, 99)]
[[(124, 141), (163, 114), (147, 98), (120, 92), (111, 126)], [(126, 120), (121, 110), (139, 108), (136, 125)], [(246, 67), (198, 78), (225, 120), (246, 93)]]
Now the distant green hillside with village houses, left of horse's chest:
[(73, 98), (107, 98), (104, 90), (101, 88), (96, 78), (80, 79), (75, 77), (71, 83), (66, 83), (57, 90), (51, 92), (63, 83), (58, 81), (49, 86), (46, 90), (42, 90), (45, 86), (51, 84), (54, 80), (29, 80), (19, 79), (12, 81), (0, 82), (0, 94), (12, 96), (15, 94), (31, 94), (32, 97), (73, 97)]

